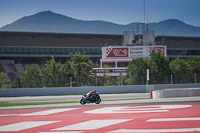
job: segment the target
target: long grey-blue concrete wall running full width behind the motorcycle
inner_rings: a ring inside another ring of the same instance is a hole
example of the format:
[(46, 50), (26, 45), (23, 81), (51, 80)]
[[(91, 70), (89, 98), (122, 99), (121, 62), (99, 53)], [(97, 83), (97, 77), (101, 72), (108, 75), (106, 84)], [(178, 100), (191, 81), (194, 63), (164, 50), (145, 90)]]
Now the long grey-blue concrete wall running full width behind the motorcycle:
[(1, 97), (9, 96), (46, 96), (46, 95), (80, 95), (96, 89), (102, 94), (111, 93), (148, 93), (151, 89), (200, 88), (200, 84), (165, 84), (165, 85), (128, 85), (128, 86), (93, 86), (93, 87), (59, 87), (59, 88), (18, 88), (0, 89)]

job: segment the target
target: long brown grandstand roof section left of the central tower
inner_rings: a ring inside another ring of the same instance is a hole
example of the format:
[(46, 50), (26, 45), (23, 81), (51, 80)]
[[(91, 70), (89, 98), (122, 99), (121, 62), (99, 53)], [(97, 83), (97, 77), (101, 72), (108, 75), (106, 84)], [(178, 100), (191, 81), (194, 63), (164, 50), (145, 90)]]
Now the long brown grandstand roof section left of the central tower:
[(0, 46), (102, 47), (120, 45), (121, 35), (36, 32), (0, 32)]

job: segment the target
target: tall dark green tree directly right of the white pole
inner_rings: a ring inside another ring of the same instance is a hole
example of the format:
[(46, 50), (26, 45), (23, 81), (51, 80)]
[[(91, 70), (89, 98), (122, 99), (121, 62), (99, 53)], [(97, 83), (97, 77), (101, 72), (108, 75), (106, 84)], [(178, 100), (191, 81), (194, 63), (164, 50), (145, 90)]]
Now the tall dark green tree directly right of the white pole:
[(161, 53), (153, 53), (149, 59), (150, 83), (166, 83), (170, 73), (169, 60)]

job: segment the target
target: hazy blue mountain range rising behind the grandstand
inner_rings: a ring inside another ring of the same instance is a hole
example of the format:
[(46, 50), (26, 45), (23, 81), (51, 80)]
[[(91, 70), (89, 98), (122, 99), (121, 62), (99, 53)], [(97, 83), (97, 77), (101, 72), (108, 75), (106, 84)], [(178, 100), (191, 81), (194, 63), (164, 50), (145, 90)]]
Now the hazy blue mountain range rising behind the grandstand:
[[(123, 34), (124, 31), (130, 30), (141, 33), (142, 29), (141, 24), (137, 22), (120, 25), (100, 20), (84, 21), (52, 11), (43, 11), (22, 17), (11, 24), (1, 27), (0, 31)], [(177, 19), (149, 23), (148, 29), (154, 30), (156, 35), (200, 37), (200, 27), (186, 24)]]

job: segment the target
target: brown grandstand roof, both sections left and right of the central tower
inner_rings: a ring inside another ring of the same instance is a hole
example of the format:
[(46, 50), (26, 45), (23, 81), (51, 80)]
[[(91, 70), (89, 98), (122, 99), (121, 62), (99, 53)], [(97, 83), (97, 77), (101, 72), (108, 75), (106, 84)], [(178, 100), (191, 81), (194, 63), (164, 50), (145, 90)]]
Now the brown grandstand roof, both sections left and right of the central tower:
[[(200, 37), (158, 36), (168, 49), (200, 49)], [(102, 47), (121, 45), (123, 35), (0, 31), (0, 46), (15, 47)]]

